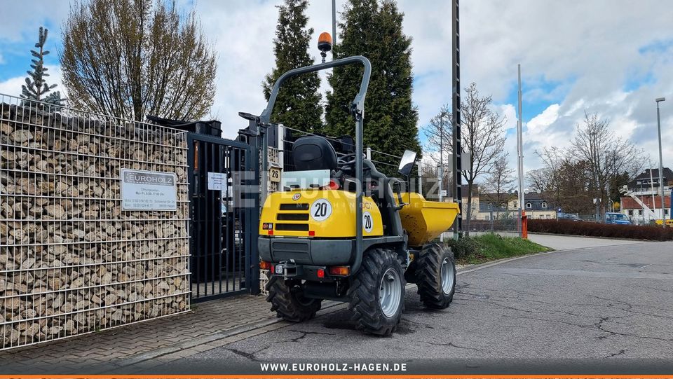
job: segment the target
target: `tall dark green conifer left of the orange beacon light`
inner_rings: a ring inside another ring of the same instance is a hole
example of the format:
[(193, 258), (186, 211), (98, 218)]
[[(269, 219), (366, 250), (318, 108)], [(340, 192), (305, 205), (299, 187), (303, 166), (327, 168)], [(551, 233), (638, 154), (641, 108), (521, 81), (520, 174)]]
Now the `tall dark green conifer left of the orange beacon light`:
[[(267, 100), (273, 83), (285, 71), (313, 64), (308, 54), (313, 28), (306, 29), (307, 6), (308, 0), (285, 0), (285, 4), (278, 6), (276, 39), (273, 40), (276, 68), (262, 83)], [(280, 89), (271, 120), (305, 132), (321, 132), (322, 105), (318, 88), (320, 77), (316, 72), (288, 79)]]

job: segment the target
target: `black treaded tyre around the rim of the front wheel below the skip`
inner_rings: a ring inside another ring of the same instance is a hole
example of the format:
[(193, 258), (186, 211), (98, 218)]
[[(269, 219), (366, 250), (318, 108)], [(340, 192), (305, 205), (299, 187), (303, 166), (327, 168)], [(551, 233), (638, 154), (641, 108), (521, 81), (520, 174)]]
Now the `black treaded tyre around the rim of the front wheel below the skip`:
[[(454, 268), (454, 284), (449, 294), (442, 290), (442, 262), (449, 259)], [(456, 292), (456, 262), (449, 247), (430, 244), (421, 251), (416, 263), (416, 286), (419, 288), (421, 302), (428, 308), (444, 309), (454, 299)]]

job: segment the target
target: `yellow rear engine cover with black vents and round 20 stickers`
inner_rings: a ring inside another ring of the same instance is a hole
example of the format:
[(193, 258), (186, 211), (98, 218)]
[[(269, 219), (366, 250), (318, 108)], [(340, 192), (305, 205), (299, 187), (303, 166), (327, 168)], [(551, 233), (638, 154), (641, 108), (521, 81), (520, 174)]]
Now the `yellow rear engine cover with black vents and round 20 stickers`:
[[(270, 193), (261, 209), (259, 235), (287, 237), (355, 237), (355, 193), (299, 190)], [(362, 197), (362, 237), (383, 235), (381, 212)]]

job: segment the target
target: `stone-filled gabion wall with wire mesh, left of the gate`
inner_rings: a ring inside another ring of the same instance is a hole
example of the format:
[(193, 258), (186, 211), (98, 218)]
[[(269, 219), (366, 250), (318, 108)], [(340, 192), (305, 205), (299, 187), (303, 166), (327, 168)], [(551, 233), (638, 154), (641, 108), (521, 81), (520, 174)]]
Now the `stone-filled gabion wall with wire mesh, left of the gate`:
[[(0, 95), (0, 348), (189, 310), (186, 135)], [(177, 174), (122, 211), (120, 169)]]

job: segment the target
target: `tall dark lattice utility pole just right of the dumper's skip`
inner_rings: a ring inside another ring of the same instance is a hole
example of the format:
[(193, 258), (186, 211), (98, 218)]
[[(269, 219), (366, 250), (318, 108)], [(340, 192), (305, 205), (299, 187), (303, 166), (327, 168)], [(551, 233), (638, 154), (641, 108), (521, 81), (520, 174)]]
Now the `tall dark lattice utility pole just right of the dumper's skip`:
[(453, 137), (454, 137), (454, 154), (453, 154), (453, 172), (454, 172), (454, 202), (458, 204), (458, 216), (454, 223), (454, 239), (457, 240), (463, 231), (463, 172), (461, 168), (461, 155), (463, 146), (461, 144), (461, 41), (460, 41), (460, 7), (458, 0), (451, 0), (451, 39), (452, 39), (452, 53), (451, 60), (453, 65), (451, 67), (453, 98), (451, 110), (454, 116), (452, 120)]

